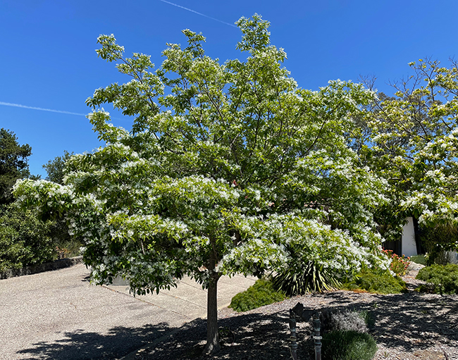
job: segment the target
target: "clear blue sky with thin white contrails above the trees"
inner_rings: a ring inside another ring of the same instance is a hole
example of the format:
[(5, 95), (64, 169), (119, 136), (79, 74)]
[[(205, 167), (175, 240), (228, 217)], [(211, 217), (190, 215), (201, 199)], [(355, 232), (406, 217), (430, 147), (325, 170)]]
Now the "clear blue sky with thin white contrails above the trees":
[[(1, 0), (0, 128), (30, 144), (30, 171), (44, 177), (42, 165), (64, 150), (102, 145), (85, 99), (128, 81), (97, 58), (100, 34), (159, 65), (166, 43), (184, 44), (180, 30), (189, 28), (206, 36), (209, 56), (225, 61), (242, 58), (232, 24), (254, 13), (271, 22), (272, 44), (285, 49), (285, 67), (306, 89), (374, 75), (391, 94), (388, 82), (407, 77), (410, 61), (429, 56), (447, 66), (458, 58), (457, 0)], [(130, 119), (112, 115), (130, 128)]]

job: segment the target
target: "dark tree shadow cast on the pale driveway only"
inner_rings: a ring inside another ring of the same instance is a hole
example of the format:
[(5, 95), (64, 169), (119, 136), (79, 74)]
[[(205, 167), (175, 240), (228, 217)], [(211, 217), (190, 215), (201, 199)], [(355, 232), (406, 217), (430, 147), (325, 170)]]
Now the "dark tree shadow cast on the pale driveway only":
[(30, 360), (119, 359), (172, 330), (168, 323), (144, 325), (142, 328), (118, 326), (104, 334), (76, 330), (63, 333), (61, 340), (37, 342), (34, 347), (20, 350), (18, 354), (30, 354), (26, 358)]

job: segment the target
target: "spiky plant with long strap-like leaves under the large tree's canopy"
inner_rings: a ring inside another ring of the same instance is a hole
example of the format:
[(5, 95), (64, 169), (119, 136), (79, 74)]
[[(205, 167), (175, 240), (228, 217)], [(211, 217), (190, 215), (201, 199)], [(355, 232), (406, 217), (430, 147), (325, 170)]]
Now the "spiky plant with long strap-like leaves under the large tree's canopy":
[(322, 292), (341, 286), (333, 275), (313, 261), (309, 261), (302, 268), (287, 268), (283, 273), (275, 275), (272, 283), (277, 290), (285, 292), (288, 296)]

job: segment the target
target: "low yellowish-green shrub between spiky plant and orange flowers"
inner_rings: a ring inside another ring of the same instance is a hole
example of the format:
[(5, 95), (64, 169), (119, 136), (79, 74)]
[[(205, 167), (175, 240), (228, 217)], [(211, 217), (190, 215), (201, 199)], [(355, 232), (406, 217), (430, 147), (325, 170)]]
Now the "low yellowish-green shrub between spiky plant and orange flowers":
[(399, 276), (388, 271), (364, 268), (351, 282), (342, 286), (347, 290), (365, 290), (377, 294), (400, 294), (407, 292), (407, 285)]

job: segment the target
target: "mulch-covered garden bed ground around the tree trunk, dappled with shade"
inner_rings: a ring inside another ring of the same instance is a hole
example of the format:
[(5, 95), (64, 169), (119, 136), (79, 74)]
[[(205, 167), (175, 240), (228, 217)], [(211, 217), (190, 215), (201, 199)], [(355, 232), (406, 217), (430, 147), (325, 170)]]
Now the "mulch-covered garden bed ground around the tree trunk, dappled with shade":
[[(421, 283), (414, 279), (416, 273), (404, 276), (409, 286), (406, 294), (339, 290), (294, 297), (242, 314), (225, 308), (219, 311), (219, 325), (226, 331), (218, 354), (201, 355), (206, 322), (197, 319), (133, 359), (292, 359), (288, 348), (289, 309), (301, 302), (306, 309), (370, 311), (376, 318), (370, 330), (378, 345), (374, 360), (458, 360), (458, 296), (414, 292)], [(298, 322), (299, 359), (314, 359), (310, 335), (311, 325)]]

